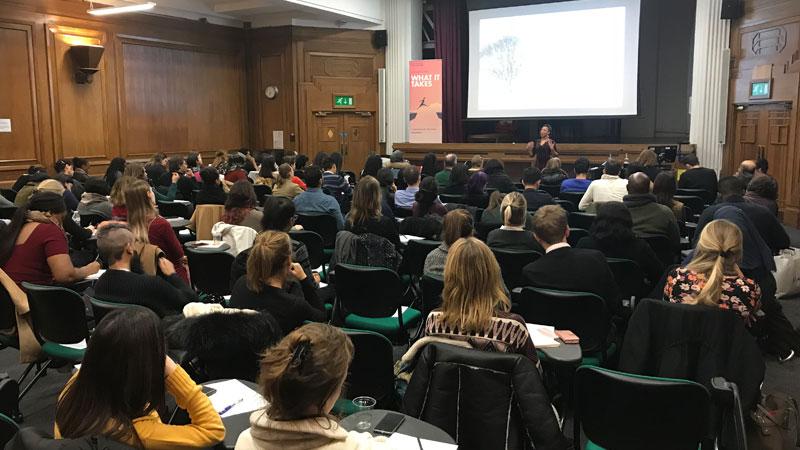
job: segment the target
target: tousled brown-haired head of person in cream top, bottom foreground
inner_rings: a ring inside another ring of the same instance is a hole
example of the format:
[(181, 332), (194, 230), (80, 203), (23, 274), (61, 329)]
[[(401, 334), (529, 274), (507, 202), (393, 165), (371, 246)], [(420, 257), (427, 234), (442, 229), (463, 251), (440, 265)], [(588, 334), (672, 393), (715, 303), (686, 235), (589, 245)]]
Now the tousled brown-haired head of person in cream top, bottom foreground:
[(336, 327), (309, 323), (286, 335), (261, 360), (258, 384), (269, 418), (327, 416), (352, 358), (353, 343)]

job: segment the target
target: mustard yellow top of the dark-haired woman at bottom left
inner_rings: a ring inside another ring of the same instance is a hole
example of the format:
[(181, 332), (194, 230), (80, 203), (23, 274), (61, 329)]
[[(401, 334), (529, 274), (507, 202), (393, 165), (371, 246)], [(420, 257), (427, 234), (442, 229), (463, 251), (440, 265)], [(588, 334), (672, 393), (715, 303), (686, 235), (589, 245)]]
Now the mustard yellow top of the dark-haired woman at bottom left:
[[(76, 374), (77, 375), (77, 374)], [(67, 382), (72, 383), (75, 376)], [(211, 447), (225, 439), (225, 427), (222, 419), (214, 410), (211, 401), (203, 394), (200, 386), (195, 384), (186, 371), (178, 366), (165, 381), (167, 392), (175, 397), (178, 407), (189, 413), (189, 425), (167, 425), (161, 421), (158, 412), (133, 419), (133, 428), (146, 449), (175, 449)], [(63, 391), (61, 393), (63, 395)], [(53, 434), (61, 439), (58, 424)], [(134, 442), (126, 442), (133, 445)]]

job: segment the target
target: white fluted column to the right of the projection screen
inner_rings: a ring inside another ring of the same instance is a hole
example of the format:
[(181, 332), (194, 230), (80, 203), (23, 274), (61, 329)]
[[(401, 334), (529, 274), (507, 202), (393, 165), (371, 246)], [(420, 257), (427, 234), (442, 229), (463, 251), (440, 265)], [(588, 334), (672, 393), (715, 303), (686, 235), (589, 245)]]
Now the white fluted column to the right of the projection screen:
[(723, 0), (697, 0), (689, 141), (700, 163), (719, 172), (725, 143), (730, 20), (720, 19)]

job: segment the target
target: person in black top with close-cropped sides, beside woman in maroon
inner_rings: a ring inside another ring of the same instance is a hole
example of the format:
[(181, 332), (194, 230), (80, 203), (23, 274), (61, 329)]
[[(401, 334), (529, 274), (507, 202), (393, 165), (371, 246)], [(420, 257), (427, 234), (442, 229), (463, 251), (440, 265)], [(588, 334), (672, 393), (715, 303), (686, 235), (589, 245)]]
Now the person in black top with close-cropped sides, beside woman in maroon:
[(198, 301), (167, 258), (158, 259), (164, 278), (131, 271), (131, 262), (137, 257), (134, 243), (133, 233), (125, 224), (110, 223), (97, 231), (97, 251), (108, 270), (94, 285), (96, 298), (145, 306), (160, 318), (180, 314), (187, 303)]

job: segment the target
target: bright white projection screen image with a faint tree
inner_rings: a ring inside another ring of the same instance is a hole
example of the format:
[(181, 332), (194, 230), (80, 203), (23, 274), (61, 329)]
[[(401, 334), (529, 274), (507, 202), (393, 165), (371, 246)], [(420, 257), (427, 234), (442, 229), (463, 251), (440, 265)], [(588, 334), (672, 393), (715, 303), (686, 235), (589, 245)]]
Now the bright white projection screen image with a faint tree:
[(639, 0), (470, 12), (471, 118), (636, 114)]

